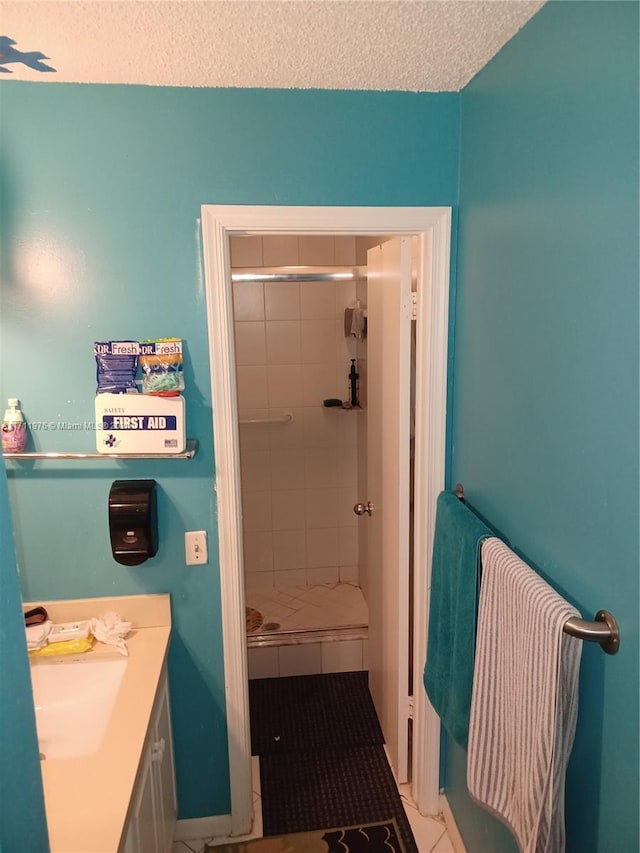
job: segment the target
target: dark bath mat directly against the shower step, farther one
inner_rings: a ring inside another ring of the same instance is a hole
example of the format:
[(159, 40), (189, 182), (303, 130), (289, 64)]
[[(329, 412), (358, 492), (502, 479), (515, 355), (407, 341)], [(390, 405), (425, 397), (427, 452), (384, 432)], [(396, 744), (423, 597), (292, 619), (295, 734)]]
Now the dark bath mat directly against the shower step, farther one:
[(252, 679), (249, 710), (253, 755), (384, 743), (364, 671)]

